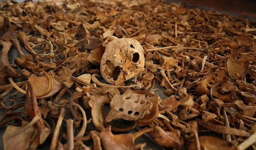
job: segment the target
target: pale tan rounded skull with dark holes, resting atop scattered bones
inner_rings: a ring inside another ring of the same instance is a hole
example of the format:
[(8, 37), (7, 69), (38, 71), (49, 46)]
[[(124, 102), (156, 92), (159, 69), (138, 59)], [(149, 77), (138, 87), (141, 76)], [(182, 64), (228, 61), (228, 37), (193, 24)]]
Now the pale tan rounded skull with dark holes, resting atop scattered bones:
[(115, 39), (108, 43), (100, 62), (100, 72), (108, 83), (124, 85), (144, 70), (144, 49), (134, 39)]

